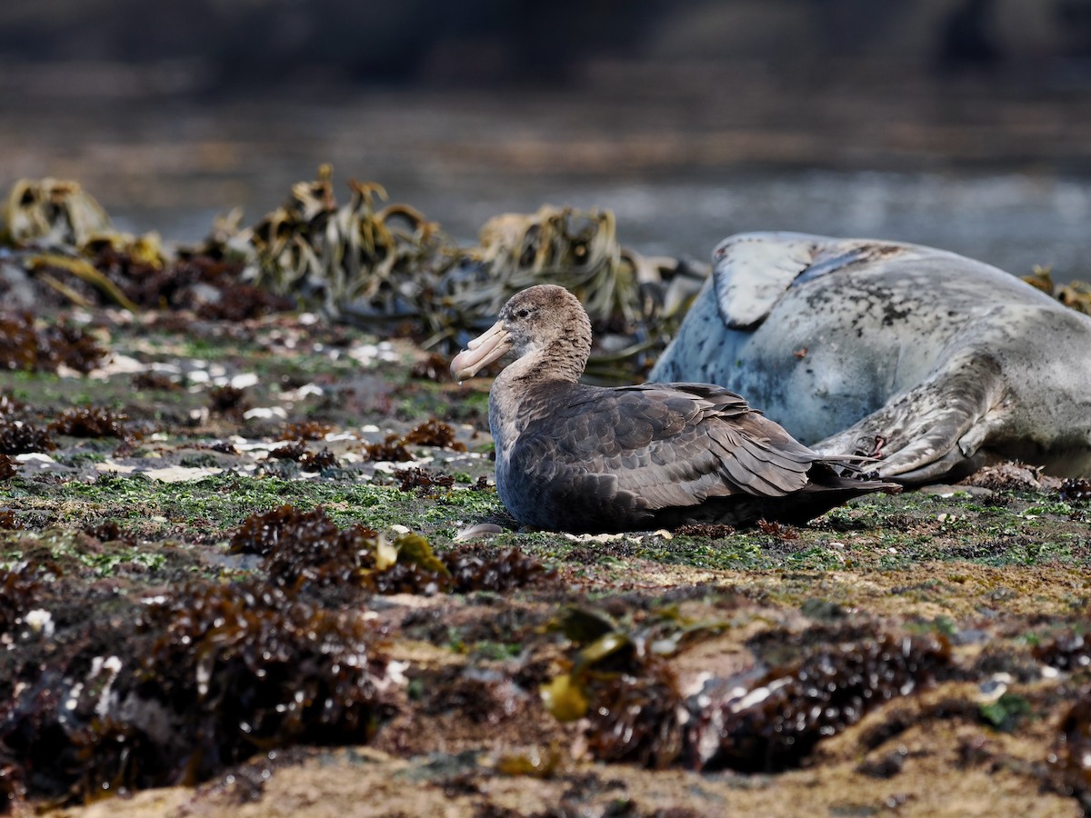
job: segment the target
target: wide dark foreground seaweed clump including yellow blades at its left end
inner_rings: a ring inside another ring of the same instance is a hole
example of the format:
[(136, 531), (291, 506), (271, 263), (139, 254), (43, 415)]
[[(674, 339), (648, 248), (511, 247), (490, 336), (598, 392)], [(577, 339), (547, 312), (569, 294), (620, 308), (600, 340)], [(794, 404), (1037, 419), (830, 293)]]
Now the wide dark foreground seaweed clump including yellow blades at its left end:
[[(664, 619), (671, 623), (671, 617)], [(547, 709), (562, 721), (586, 719), (597, 758), (661, 769), (780, 771), (799, 766), (827, 736), (855, 724), (878, 705), (950, 672), (943, 637), (884, 635), (819, 646), (766, 673), (714, 678), (688, 699), (668, 657), (680, 639), (647, 622), (621, 627), (589, 611), (561, 623), (582, 646), (566, 674), (542, 687)], [(688, 709), (690, 718), (680, 712)]]

